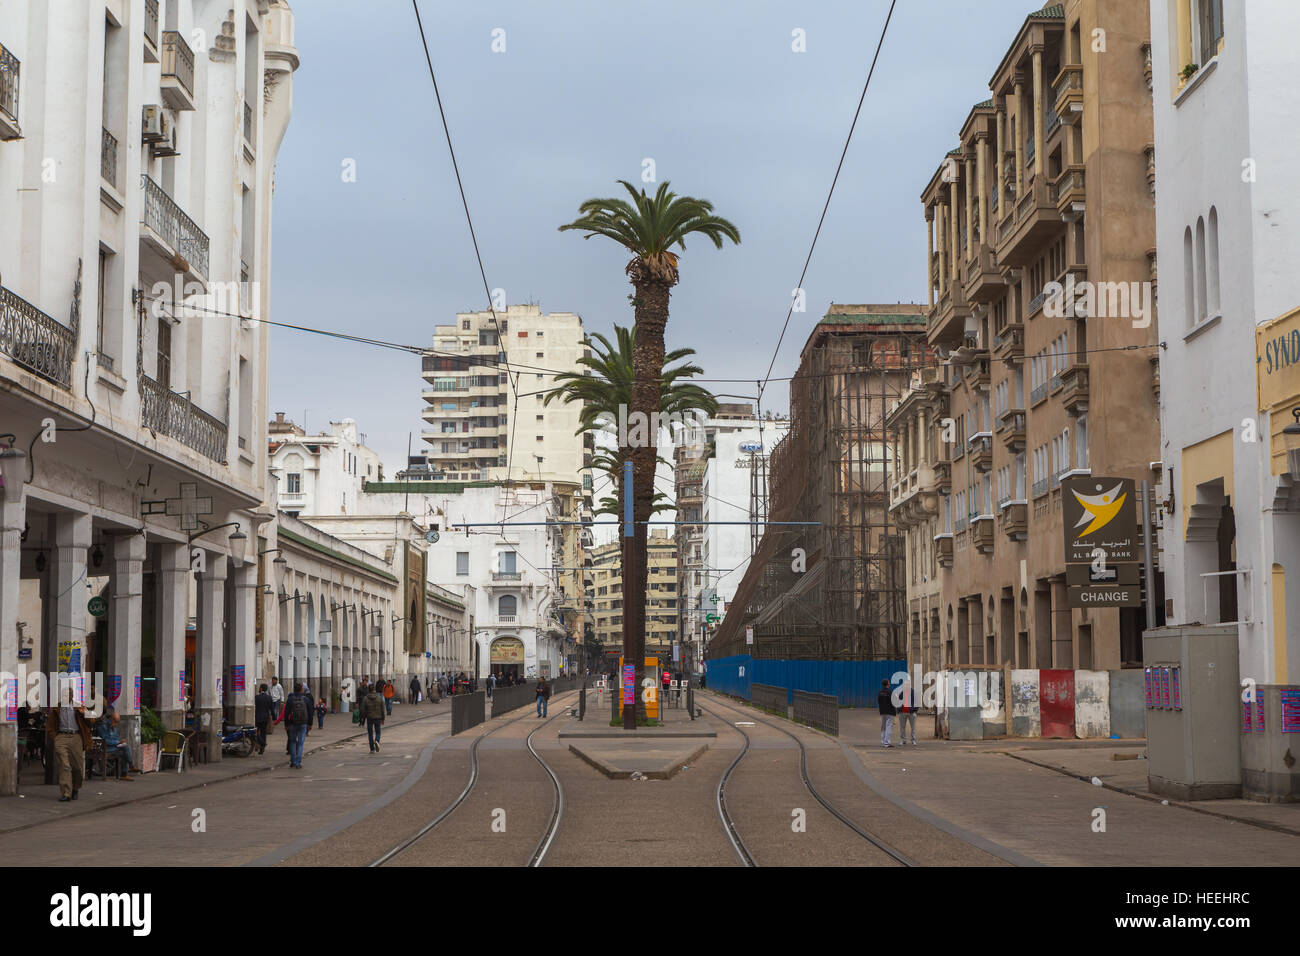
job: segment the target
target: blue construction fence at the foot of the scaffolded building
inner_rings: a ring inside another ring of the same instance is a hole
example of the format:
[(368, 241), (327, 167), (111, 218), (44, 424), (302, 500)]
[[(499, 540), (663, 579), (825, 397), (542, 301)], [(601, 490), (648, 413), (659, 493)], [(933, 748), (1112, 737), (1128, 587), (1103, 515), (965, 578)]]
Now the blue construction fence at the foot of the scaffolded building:
[(841, 708), (875, 708), (880, 682), (907, 670), (906, 661), (781, 661), (749, 654), (707, 662), (706, 687), (753, 700), (753, 684), (784, 687), (836, 697)]

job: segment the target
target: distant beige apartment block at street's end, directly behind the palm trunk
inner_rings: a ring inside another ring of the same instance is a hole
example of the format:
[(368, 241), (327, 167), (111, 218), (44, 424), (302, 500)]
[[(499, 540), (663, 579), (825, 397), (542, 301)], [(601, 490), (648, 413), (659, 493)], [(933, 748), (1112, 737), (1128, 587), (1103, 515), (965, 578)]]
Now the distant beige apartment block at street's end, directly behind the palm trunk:
[[(623, 649), (623, 555), (621, 541), (601, 545), (592, 553), (595, 635), (606, 653)], [(677, 545), (667, 528), (651, 528), (647, 538), (650, 572), (646, 579), (646, 657), (672, 659), (677, 640)]]

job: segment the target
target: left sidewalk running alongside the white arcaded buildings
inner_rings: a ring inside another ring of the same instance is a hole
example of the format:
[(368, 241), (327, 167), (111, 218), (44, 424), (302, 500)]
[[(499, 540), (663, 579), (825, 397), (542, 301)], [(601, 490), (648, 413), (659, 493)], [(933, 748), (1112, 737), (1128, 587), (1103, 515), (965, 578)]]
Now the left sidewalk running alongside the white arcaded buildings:
[[(441, 704), (429, 704), (428, 701), (415, 705), (394, 702), (393, 715), (387, 718), (384, 727), (387, 730), (415, 721), (450, 715), (450, 697), (443, 697)], [(450, 731), (450, 727), (447, 730)], [(328, 747), (356, 739), (365, 740), (365, 727), (354, 724), (351, 714), (326, 714), (322, 730), (316, 728), (313, 719), (312, 730), (307, 735), (307, 743), (303, 748), (303, 757), (304, 760), (309, 758), (313, 753)], [(107, 779), (95, 777), (82, 784), (78, 800), (61, 804), (58, 803), (58, 786), (46, 786), (44, 771), (36, 763), (23, 767), (16, 796), (0, 797), (0, 834), (287, 766), (285, 731), (282, 727), (272, 727), (266, 734), (266, 753), (264, 754), (222, 757), (217, 762), (187, 766), (179, 774), (176, 773), (169, 761), (166, 770), (152, 774), (133, 774), (129, 782), (117, 780), (113, 777)]]

